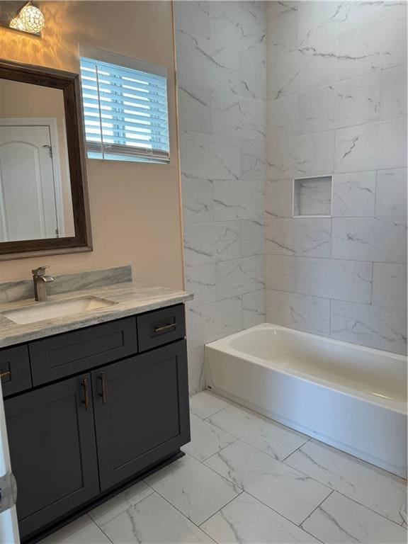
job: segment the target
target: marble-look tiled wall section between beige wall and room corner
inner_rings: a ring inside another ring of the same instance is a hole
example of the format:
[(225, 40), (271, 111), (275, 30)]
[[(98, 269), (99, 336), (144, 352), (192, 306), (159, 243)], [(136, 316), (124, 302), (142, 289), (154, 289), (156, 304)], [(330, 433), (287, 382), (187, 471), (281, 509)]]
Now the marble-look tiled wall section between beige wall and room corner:
[(175, 1), (190, 392), (203, 346), (265, 320), (266, 6)]

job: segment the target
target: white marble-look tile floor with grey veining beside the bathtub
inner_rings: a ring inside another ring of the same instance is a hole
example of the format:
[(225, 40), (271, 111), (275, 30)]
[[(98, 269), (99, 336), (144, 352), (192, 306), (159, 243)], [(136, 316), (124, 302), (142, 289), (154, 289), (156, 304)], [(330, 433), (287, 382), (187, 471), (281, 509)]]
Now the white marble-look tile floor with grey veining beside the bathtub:
[(41, 544), (405, 543), (407, 482), (210, 392), (191, 443)]

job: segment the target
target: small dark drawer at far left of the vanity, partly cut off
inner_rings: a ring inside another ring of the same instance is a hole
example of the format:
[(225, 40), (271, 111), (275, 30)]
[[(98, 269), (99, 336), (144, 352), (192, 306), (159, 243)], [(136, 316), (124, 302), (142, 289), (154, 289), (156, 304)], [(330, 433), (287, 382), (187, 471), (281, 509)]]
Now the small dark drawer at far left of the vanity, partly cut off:
[(0, 376), (4, 397), (32, 387), (26, 345), (4, 348), (0, 351)]

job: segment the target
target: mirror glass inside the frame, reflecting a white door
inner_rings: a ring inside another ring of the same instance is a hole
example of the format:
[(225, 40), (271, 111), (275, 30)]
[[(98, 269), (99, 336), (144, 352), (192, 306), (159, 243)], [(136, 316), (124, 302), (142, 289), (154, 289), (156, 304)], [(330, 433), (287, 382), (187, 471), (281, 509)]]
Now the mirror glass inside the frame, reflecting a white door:
[(1, 80), (0, 97), (0, 242), (74, 236), (62, 91)]

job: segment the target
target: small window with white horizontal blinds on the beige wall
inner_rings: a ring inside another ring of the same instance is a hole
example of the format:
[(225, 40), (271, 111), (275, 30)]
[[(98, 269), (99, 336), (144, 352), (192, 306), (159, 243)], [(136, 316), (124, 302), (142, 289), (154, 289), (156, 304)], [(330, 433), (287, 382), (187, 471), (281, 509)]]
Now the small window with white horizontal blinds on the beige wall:
[(88, 157), (169, 162), (166, 69), (93, 47), (80, 51)]

